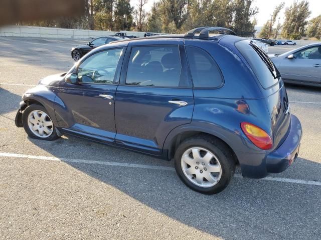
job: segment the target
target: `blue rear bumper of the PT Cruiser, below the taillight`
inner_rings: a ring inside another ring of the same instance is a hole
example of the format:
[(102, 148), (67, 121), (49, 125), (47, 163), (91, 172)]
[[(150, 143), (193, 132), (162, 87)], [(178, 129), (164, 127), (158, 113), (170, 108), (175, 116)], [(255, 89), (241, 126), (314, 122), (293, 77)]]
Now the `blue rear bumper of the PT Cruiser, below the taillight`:
[(274, 151), (262, 154), (236, 152), (244, 177), (262, 178), (269, 173), (284, 171), (298, 155), (302, 137), (302, 126), (295, 115), (291, 115), (290, 131), (284, 142)]

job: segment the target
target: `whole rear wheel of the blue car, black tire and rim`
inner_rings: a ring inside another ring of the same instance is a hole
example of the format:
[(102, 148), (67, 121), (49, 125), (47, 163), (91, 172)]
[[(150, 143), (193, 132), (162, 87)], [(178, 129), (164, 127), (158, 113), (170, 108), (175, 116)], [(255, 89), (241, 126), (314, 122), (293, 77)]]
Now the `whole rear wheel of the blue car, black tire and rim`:
[(207, 135), (184, 140), (174, 158), (181, 180), (204, 194), (215, 194), (225, 189), (235, 171), (230, 148), (218, 138)]

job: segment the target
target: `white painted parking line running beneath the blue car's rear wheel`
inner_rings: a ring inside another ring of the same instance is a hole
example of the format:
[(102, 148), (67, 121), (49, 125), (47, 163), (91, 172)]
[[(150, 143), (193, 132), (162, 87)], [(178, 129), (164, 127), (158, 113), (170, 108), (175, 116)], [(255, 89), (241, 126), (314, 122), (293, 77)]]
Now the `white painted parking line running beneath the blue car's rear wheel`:
[[(72, 158), (63, 158), (63, 157), (58, 158), (58, 157), (54, 157), (54, 156), (37, 156), (37, 155), (26, 155), (26, 154), (18, 154), (18, 153), (10, 153), (10, 152), (0, 152), (0, 156), (13, 157), (13, 158), (15, 157), (15, 158), (25, 158), (25, 159), (77, 162), (77, 163), (86, 163), (86, 164), (100, 164), (100, 165), (109, 165), (109, 166), (124, 166), (124, 167), (136, 167), (136, 168), (147, 168), (147, 169), (155, 169), (155, 170), (175, 171), (174, 167), (169, 167), (169, 166), (153, 166), (153, 165), (135, 164), (135, 163), (127, 163), (127, 162), (95, 161), (95, 160), (72, 159)], [(242, 178), (241, 174), (235, 174), (234, 176)], [(289, 182), (289, 183), (321, 186), (321, 181), (282, 178), (282, 177), (267, 176), (265, 178), (257, 179), (257, 180), (280, 181), (280, 182)]]

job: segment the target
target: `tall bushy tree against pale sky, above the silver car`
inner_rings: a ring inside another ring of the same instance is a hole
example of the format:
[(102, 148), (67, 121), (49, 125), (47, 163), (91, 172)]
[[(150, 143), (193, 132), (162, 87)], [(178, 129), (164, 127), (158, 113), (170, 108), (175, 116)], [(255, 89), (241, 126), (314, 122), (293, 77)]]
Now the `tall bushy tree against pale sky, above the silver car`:
[(285, 38), (299, 39), (304, 33), (307, 18), (310, 15), (307, 0), (295, 0), (291, 6), (285, 8), (285, 20), (282, 27), (282, 35)]

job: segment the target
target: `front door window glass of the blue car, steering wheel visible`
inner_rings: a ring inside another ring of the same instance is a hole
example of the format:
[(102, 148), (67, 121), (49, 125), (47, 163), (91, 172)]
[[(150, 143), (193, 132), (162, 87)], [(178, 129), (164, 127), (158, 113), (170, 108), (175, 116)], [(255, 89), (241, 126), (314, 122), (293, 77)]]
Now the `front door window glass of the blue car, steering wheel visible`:
[(112, 84), (122, 48), (97, 52), (77, 69), (78, 82)]

